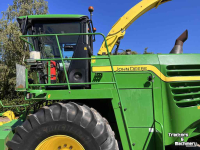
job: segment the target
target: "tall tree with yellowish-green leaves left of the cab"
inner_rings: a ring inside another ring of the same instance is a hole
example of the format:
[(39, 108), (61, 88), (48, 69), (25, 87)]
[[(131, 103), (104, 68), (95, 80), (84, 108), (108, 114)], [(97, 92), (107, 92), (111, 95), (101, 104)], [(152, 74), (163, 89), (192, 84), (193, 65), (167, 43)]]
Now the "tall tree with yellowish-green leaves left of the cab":
[[(20, 40), (20, 29), (16, 21), (19, 16), (48, 13), (45, 0), (13, 0), (13, 4), (2, 12), (0, 19), (0, 100), (6, 104), (21, 104), (23, 95), (15, 92), (16, 63), (24, 65), (29, 57), (28, 46)], [(14, 100), (14, 101), (12, 101)]]

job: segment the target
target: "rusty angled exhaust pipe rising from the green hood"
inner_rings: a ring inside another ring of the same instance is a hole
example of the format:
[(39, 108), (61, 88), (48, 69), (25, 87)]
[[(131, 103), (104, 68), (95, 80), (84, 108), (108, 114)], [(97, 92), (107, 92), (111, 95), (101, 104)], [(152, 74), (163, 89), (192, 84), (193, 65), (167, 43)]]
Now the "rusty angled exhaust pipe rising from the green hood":
[(183, 53), (183, 43), (188, 39), (188, 30), (185, 30), (175, 42), (173, 49), (170, 54), (182, 54)]

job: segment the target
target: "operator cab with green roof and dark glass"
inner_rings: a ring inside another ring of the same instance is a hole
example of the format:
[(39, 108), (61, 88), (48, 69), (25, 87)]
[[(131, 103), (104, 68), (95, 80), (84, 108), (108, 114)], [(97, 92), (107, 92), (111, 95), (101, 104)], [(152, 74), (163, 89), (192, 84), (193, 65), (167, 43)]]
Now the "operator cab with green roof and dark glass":
[[(41, 59), (54, 59), (51, 65), (56, 67), (56, 79), (54, 78), (54, 82), (51, 83), (67, 82), (64, 69), (67, 71), (69, 83), (84, 83), (90, 81), (90, 60), (64, 60), (64, 67), (61, 60), (55, 60), (61, 57), (91, 57), (94, 36), (62, 35), (66, 33), (92, 32), (92, 21), (87, 16), (40, 15), (38, 17), (37, 15), (31, 15), (19, 17), (18, 22), (24, 35), (33, 35), (33, 37), (28, 38), (28, 41), (34, 46), (35, 51), (40, 52)], [(54, 34), (57, 34), (58, 38)], [(34, 49), (29, 45), (30, 51), (34, 51)], [(41, 68), (34, 65), (32, 68)], [(42, 67), (42, 71), (39, 71), (40, 83), (46, 84), (48, 83), (47, 61), (42, 61), (42, 65), (44, 67)], [(60, 89), (66, 87), (48, 86), (47, 88)], [(89, 88), (89, 85), (73, 85), (71, 88)]]

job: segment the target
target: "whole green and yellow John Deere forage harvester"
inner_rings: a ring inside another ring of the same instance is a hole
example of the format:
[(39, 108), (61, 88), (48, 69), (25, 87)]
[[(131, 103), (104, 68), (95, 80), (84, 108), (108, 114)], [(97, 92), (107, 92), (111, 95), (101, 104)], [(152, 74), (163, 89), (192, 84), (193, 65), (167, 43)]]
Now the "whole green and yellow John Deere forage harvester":
[[(168, 1), (141, 1), (117, 21), (107, 37), (95, 33), (92, 20), (84, 15), (19, 17), (21, 39), (29, 46), (30, 59), (25, 60), (28, 67), (16, 65), (16, 90), (25, 93), (30, 105), (17, 120), (12, 112), (3, 114), (11, 121), (1, 123), (0, 149), (196, 146), (200, 55), (183, 54), (187, 31), (170, 54), (128, 55), (127, 50), (127, 55), (117, 55), (126, 29)], [(92, 7), (89, 10), (93, 12)], [(95, 36), (104, 38), (98, 56), (93, 55)]]

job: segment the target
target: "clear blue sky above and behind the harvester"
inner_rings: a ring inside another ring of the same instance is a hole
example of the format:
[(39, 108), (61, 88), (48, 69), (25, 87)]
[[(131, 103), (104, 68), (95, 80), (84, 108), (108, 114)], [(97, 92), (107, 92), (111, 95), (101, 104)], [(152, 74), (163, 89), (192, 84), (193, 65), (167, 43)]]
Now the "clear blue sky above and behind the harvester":
[[(97, 32), (105, 35), (112, 25), (140, 0), (49, 0), (50, 14), (89, 15), (88, 7), (94, 7), (93, 22)], [(12, 0), (1, 1), (0, 11), (7, 9)], [(142, 53), (145, 47), (149, 52), (169, 53), (175, 39), (185, 29), (189, 38), (185, 42), (184, 53), (200, 52), (200, 1), (172, 0), (152, 9), (136, 20), (121, 40), (121, 49), (131, 49)], [(98, 52), (102, 38), (94, 43)]]

